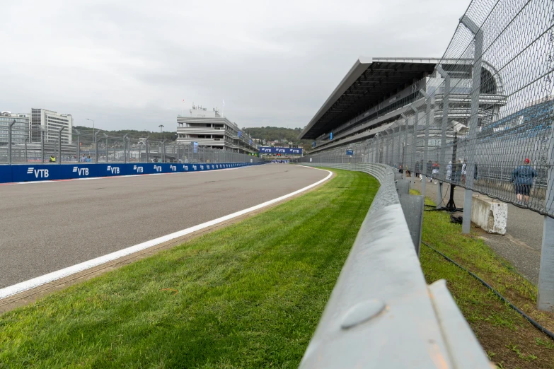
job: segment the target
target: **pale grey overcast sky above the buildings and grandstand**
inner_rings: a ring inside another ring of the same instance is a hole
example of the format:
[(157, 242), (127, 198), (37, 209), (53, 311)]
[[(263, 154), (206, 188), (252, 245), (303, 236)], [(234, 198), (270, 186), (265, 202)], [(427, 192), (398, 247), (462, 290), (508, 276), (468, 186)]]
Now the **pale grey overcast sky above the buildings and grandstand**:
[(468, 4), (4, 0), (0, 110), (174, 131), (225, 100), (239, 127), (304, 127), (360, 55), (441, 57)]

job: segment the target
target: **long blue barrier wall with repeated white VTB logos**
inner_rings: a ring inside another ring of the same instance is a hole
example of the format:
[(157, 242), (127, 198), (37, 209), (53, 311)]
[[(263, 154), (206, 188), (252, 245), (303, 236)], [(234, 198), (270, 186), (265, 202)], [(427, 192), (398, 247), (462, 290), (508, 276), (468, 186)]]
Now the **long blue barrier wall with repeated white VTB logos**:
[(69, 180), (86, 177), (112, 177), (118, 175), (143, 175), (156, 173), (201, 172), (239, 168), (260, 163), (133, 163), (133, 164), (38, 164), (0, 165), (0, 183), (33, 182), (44, 180)]

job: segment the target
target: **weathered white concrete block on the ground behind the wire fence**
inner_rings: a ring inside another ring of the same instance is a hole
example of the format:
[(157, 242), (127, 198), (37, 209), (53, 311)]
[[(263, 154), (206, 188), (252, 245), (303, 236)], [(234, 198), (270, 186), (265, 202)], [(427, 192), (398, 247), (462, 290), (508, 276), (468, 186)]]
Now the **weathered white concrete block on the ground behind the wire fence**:
[(506, 234), (508, 205), (486, 196), (473, 196), (471, 221), (488, 233)]

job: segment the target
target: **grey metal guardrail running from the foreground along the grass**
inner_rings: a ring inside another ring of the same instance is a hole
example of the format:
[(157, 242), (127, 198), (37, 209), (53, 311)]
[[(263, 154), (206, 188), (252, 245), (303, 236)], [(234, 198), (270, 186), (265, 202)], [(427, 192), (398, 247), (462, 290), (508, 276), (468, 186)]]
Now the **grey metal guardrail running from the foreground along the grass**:
[(318, 166), (366, 172), (381, 187), (300, 368), (490, 368), (446, 283), (425, 283), (393, 169)]

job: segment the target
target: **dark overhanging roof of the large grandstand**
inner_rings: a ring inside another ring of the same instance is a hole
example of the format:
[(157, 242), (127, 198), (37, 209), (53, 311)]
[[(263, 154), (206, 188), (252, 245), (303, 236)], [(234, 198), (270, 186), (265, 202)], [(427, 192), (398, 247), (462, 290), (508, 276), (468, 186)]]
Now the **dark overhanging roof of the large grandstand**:
[[(448, 61), (446, 61), (448, 62)], [(339, 85), (301, 132), (300, 139), (316, 139), (366, 110), (386, 101), (433, 73), (437, 58), (366, 58), (359, 57)], [(456, 64), (471, 65), (470, 59)], [(485, 63), (486, 64), (486, 63)], [(488, 64), (487, 69), (492, 69)], [(502, 89), (501, 81), (497, 81)], [(500, 91), (499, 91), (500, 92)]]

